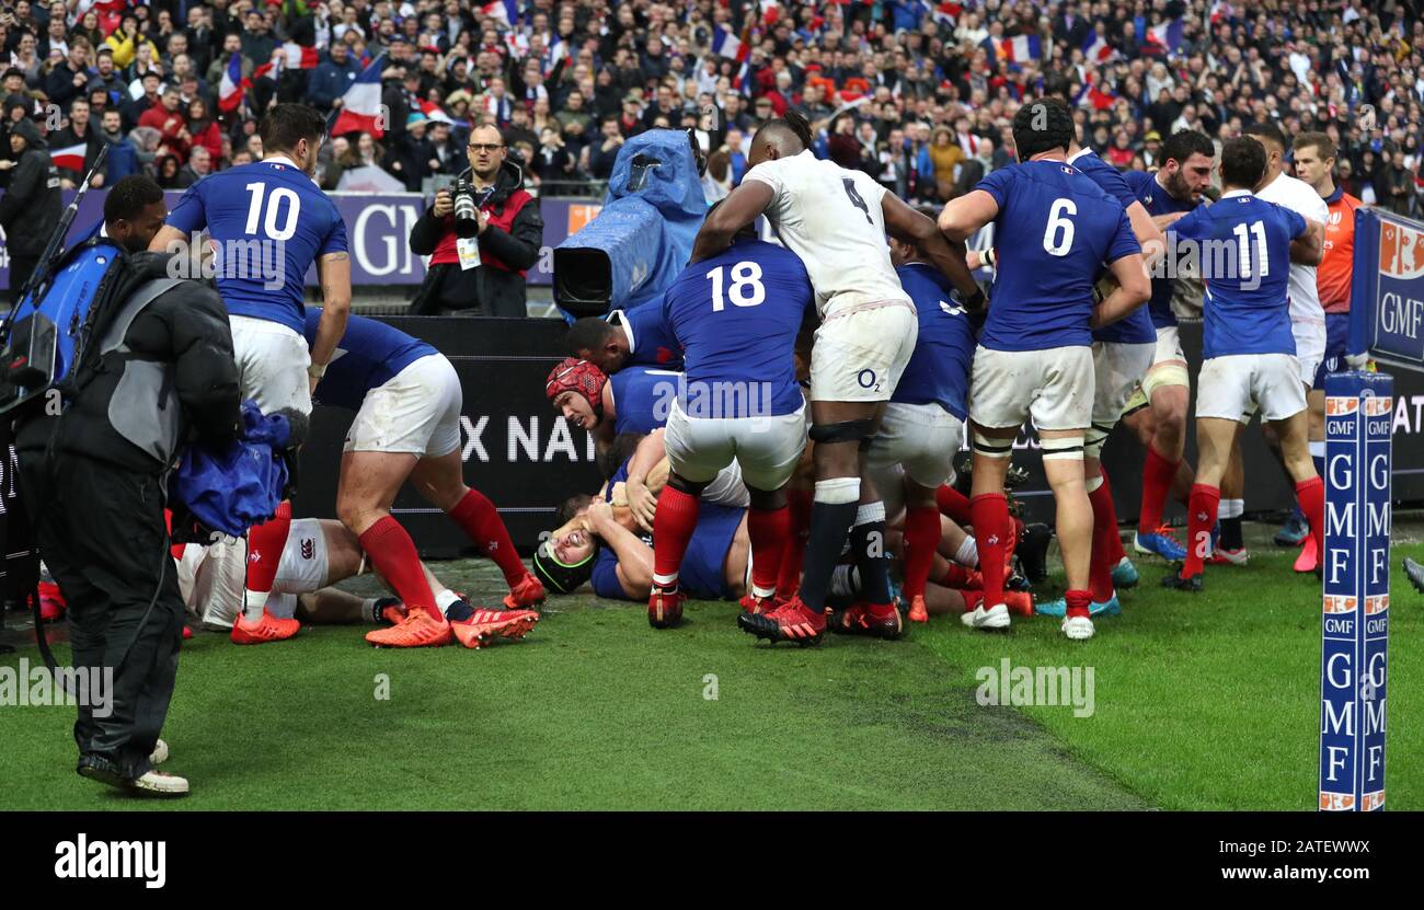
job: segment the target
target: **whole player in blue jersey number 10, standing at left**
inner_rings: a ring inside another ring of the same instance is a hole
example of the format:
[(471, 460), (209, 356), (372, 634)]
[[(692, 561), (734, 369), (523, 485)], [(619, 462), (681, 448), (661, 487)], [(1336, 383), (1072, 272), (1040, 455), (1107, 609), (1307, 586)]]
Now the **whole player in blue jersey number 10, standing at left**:
[[(258, 130), (262, 161), (218, 171), (189, 187), (148, 248), (189, 249), (195, 256), (194, 248), (201, 245), (194, 238), (208, 232), (218, 293), (232, 325), (242, 397), (263, 413), (285, 410), (306, 417), (312, 389), (346, 330), (350, 310), (346, 225), (312, 179), (326, 134), (322, 115), (302, 104), (278, 104)], [(326, 306), (308, 347), (302, 300), (313, 263)], [(248, 531), (248, 590), (242, 618), (232, 625), (238, 644), (296, 634), (295, 619), (276, 619), (265, 610), (290, 525), (292, 506), (282, 503), (271, 521)]]

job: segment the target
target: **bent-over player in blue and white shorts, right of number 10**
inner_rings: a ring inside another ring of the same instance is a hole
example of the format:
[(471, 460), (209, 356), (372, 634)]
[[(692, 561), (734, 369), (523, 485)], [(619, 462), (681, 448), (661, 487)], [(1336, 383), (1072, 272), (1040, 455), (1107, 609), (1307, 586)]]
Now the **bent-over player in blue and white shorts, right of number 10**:
[[(308, 312), (309, 338), (320, 320), (320, 309)], [(453, 634), (420, 570), (414, 541), (390, 514), (406, 480), (500, 567), (510, 585), (507, 608), (544, 600), (494, 504), (464, 484), (460, 377), (444, 355), (383, 322), (352, 316), (315, 397), (356, 412), (342, 453), (336, 514), (409, 608), (404, 621), (370, 632), (366, 641), (420, 648), (447, 644)]]

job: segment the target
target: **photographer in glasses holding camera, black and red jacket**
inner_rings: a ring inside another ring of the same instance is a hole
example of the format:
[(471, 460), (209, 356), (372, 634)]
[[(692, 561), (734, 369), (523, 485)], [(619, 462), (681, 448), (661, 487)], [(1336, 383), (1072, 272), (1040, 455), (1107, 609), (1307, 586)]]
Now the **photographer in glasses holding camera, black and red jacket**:
[[(538, 261), (544, 216), (520, 188), (523, 172), (507, 161), (504, 135), (493, 125), (470, 132), (470, 168), (454, 189), (436, 194), (410, 231), (410, 252), (430, 256), (426, 281), (410, 305), (419, 316), (441, 313), (524, 316), (524, 272)], [(456, 235), (456, 195), (477, 206), (476, 236)]]

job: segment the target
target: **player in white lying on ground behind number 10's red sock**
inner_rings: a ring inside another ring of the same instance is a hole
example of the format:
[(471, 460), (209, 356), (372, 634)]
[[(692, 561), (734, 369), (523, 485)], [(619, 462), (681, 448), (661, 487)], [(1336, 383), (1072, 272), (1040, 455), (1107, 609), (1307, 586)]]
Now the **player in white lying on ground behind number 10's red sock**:
[[(340, 521), (293, 520), (268, 610), (278, 618), (316, 624), (394, 625), (403, 621), (407, 610), (399, 597), (362, 598), (332, 587), (362, 574), (365, 563), (360, 541)], [(204, 628), (226, 629), (238, 619), (245, 565), (246, 547), (241, 541), (184, 547), (178, 558), (178, 587), (189, 612)], [(440, 582), (429, 567), (422, 564), (422, 570), (454, 637), (467, 648), (480, 648), (497, 638), (523, 638), (538, 622), (533, 610), (471, 607)], [(377, 578), (389, 587), (379, 572)]]

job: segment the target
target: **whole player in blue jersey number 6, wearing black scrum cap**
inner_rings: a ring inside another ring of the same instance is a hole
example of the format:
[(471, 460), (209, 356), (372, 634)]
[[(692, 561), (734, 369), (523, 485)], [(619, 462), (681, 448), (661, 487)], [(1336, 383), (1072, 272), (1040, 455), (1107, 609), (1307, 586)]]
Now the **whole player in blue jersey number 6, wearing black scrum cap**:
[[(1131, 315), (1148, 300), (1151, 285), (1122, 204), (1067, 162), (1075, 137), (1068, 105), (1057, 98), (1024, 104), (1012, 128), (1020, 164), (994, 171), (940, 214), (940, 228), (958, 241), (994, 222), (998, 259), (970, 379), (971, 511), (984, 604), (964, 614), (964, 622), (990, 629), (1010, 624), (1004, 476), (1014, 439), (1031, 416), (1058, 506), (1068, 574), (1062, 631), (1084, 639), (1094, 631), (1092, 506), (1082, 467), (1092, 424), (1092, 329)], [(1094, 283), (1104, 266), (1118, 286), (1095, 303)]]

